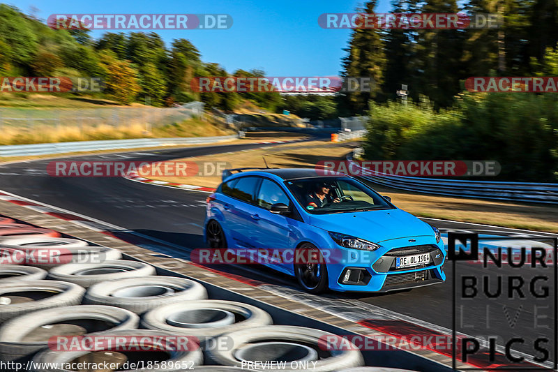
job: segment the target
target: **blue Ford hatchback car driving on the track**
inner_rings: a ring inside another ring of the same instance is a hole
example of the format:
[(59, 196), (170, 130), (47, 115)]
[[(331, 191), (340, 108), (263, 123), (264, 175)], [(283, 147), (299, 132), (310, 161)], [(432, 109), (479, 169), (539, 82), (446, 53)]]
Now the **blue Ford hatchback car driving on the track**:
[[(346, 174), (228, 170), (207, 198), (209, 248), (296, 276), (309, 292), (386, 292), (442, 283), (439, 230)], [(236, 172), (234, 172), (236, 171)]]

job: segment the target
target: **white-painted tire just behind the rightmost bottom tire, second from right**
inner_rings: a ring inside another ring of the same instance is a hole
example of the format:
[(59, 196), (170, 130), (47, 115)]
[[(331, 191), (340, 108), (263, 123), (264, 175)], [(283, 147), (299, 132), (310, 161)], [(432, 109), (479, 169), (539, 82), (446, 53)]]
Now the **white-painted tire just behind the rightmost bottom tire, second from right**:
[[(229, 321), (224, 321), (226, 318), (219, 318), (219, 315), (230, 315), (230, 313), (233, 318)], [(212, 314), (217, 314), (218, 320), (202, 319), (210, 318)], [(179, 321), (182, 322), (182, 327)], [(189, 323), (189, 327), (186, 327), (185, 323)], [(261, 308), (218, 299), (176, 302), (154, 308), (145, 313), (142, 318), (144, 328), (160, 329), (174, 334), (189, 334), (199, 337), (200, 341), (204, 341), (205, 337), (211, 338), (236, 329), (262, 327), (271, 323), (271, 316)]]

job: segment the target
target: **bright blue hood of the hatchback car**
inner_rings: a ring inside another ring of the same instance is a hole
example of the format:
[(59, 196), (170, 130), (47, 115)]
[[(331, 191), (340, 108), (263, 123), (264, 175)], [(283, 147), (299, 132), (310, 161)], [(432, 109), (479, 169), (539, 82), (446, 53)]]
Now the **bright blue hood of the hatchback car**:
[(401, 209), (338, 214), (312, 214), (310, 225), (361, 239), (382, 241), (434, 235), (432, 228)]

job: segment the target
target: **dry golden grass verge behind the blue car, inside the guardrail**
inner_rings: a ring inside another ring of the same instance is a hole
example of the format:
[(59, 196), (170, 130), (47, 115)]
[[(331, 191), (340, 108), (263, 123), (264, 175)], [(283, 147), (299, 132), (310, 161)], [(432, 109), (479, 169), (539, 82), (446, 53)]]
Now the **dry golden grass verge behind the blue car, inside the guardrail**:
[[(345, 158), (352, 147), (351, 143), (346, 142), (337, 144), (305, 142), (305, 144), (182, 160), (227, 161), (233, 168), (243, 168), (263, 166), (262, 156), (265, 156), (270, 166), (313, 168), (318, 161)], [(220, 177), (159, 177), (158, 179), (209, 187), (215, 187), (220, 183)], [(393, 204), (415, 216), (484, 223), (506, 228), (558, 232), (558, 207), (410, 193), (373, 184), (372, 187), (379, 193), (391, 196)]]

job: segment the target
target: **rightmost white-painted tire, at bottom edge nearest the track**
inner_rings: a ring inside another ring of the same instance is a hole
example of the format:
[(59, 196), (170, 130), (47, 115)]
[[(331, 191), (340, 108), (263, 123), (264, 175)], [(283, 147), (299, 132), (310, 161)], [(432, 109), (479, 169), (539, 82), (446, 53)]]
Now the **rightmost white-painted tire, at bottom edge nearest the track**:
[[(229, 342), (234, 345), (233, 348), (211, 348), (207, 350), (207, 354), (211, 362), (223, 366), (238, 366), (242, 360), (273, 362), (285, 360), (283, 358), (287, 356), (292, 357), (293, 361), (299, 359), (315, 361), (311, 369), (313, 372), (338, 371), (364, 364), (362, 354), (356, 346), (335, 350), (335, 352), (322, 350), (324, 339), (328, 336), (334, 335), (319, 329), (288, 325), (243, 329), (223, 334), (216, 341), (218, 345)], [(312, 354), (303, 355), (304, 350), (309, 350)], [(273, 355), (274, 353), (276, 356)], [(301, 369), (291, 368), (289, 362), (281, 370), (301, 371)]]

